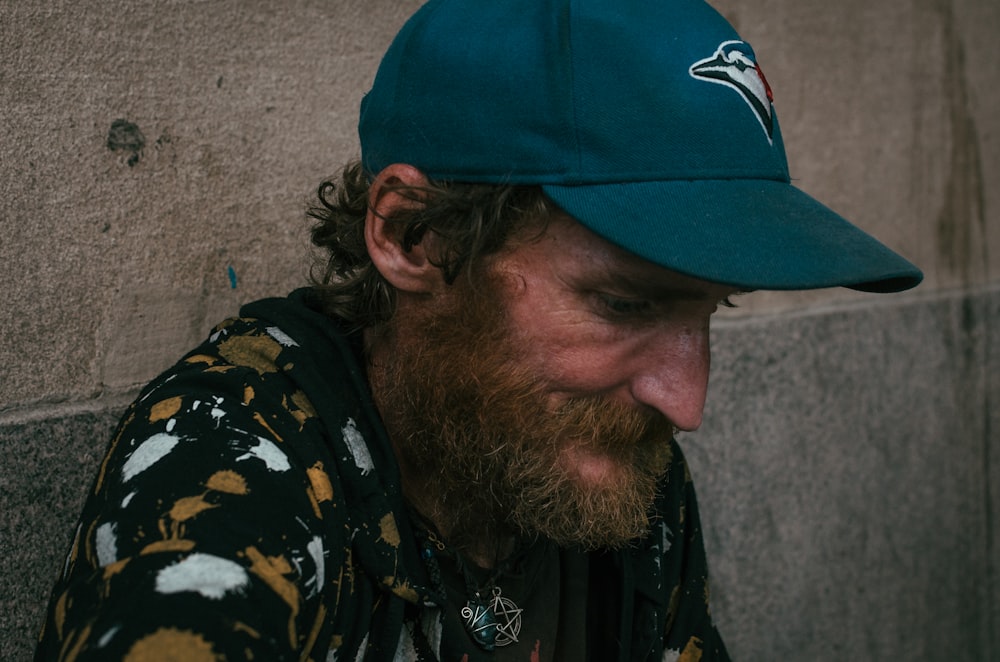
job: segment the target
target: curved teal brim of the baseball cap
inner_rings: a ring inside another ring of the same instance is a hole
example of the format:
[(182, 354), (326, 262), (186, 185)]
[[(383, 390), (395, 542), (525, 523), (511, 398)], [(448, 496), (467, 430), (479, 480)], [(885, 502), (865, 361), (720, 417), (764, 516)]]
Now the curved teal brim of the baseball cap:
[(759, 179), (543, 185), (570, 216), (655, 264), (745, 290), (899, 292), (920, 270), (799, 189)]

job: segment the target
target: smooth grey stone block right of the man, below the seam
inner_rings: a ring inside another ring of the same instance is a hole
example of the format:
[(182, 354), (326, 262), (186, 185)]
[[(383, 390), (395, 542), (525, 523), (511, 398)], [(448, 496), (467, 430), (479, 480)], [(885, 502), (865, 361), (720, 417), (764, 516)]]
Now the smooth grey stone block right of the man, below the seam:
[(995, 660), (1000, 290), (723, 325), (686, 443), (740, 660)]

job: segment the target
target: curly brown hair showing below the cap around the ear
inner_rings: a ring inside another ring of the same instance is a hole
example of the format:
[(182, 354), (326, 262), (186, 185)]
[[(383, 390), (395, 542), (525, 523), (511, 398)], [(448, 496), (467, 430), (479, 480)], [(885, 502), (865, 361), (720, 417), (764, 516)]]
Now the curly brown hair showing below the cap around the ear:
[[(348, 164), (336, 183), (324, 181), (308, 215), (318, 221), (312, 242), (327, 252), (311, 280), (321, 309), (352, 329), (387, 321), (395, 310), (395, 288), (372, 263), (365, 244), (371, 177), (360, 162)], [(539, 186), (430, 181), (426, 186), (389, 187), (419, 204), (384, 217), (400, 228), (404, 250), (430, 231), (441, 239), (433, 262), (451, 284), (463, 269), (471, 277), (483, 257), (496, 253), (518, 231), (543, 224), (557, 208)]]

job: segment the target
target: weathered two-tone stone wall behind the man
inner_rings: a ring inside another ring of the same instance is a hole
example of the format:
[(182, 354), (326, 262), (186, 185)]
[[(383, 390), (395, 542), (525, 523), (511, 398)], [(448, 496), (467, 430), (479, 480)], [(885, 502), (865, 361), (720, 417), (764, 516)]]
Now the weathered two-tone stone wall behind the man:
[[(927, 272), (717, 325), (684, 446), (719, 625), (741, 660), (998, 659), (1000, 4), (716, 4), (798, 185)], [(0, 2), (0, 658), (30, 655), (124, 404), (304, 282), (308, 196), (416, 6)]]

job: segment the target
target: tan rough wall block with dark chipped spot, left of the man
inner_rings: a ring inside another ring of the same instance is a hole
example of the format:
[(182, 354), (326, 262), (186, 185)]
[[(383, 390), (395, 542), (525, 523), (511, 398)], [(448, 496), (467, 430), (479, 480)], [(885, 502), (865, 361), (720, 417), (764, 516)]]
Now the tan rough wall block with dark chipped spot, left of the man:
[(0, 410), (134, 387), (304, 282), (308, 196), (417, 4), (0, 5)]

